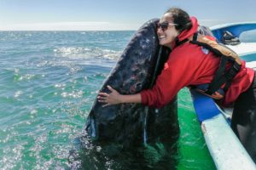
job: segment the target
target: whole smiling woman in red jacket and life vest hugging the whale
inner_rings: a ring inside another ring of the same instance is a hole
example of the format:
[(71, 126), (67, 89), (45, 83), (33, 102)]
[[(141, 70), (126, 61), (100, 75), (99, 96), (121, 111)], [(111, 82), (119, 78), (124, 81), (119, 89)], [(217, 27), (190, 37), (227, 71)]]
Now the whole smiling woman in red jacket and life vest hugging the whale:
[[(256, 146), (253, 146), (256, 140), (253, 135), (256, 131), (256, 82), (253, 81), (253, 69), (246, 67), (245, 61), (241, 61), (235, 52), (219, 45), (214, 37), (197, 32), (195, 17), (189, 18), (189, 14), (180, 8), (167, 10), (158, 26), (160, 44), (172, 48), (172, 53), (154, 87), (129, 95), (119, 94), (108, 87), (111, 93), (100, 93), (98, 101), (105, 106), (142, 103), (160, 108), (168, 104), (180, 89), (194, 87), (202, 94), (218, 99), (219, 105), (235, 105), (231, 127), (256, 162)], [(246, 108), (241, 107), (242, 101), (247, 101)]]

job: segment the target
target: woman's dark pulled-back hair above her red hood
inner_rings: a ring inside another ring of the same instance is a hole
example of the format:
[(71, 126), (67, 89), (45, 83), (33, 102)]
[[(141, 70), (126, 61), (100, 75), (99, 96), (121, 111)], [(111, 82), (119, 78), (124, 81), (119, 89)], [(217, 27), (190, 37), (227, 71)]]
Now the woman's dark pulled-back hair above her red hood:
[[(189, 18), (189, 14), (181, 8), (169, 8), (166, 13), (172, 14), (173, 23), (177, 31), (189, 30), (192, 27), (192, 22)], [(165, 13), (165, 14), (166, 14)]]

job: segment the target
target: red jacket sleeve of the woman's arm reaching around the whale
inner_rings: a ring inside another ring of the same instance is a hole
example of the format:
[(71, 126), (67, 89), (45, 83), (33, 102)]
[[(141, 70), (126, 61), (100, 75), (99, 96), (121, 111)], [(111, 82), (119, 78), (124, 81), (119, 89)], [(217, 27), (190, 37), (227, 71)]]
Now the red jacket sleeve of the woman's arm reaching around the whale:
[(189, 59), (188, 54), (175, 52), (172, 51), (170, 54), (154, 87), (140, 93), (143, 105), (160, 108), (169, 103), (181, 88), (189, 86), (195, 79), (193, 77), (196, 70), (195, 62)]

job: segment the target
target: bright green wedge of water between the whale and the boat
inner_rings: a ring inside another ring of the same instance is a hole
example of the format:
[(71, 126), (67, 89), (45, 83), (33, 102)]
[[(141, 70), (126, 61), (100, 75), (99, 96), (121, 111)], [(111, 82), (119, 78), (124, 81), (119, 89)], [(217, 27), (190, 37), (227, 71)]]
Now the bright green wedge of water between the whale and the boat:
[(183, 88), (178, 93), (177, 104), (181, 128), (178, 142), (180, 159), (177, 169), (216, 169), (201, 133), (187, 88)]

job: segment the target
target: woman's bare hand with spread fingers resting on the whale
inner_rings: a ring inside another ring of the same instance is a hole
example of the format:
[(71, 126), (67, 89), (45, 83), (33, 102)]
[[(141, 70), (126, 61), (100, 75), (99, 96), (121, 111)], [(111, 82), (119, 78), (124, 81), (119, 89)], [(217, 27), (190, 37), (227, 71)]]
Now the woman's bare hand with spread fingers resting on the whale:
[(106, 105), (102, 105), (102, 107), (105, 107), (107, 105), (117, 105), (122, 103), (122, 95), (119, 94), (115, 89), (111, 88), (110, 86), (107, 86), (107, 88), (110, 90), (110, 94), (107, 93), (99, 93), (97, 99), (100, 103), (105, 103)]

